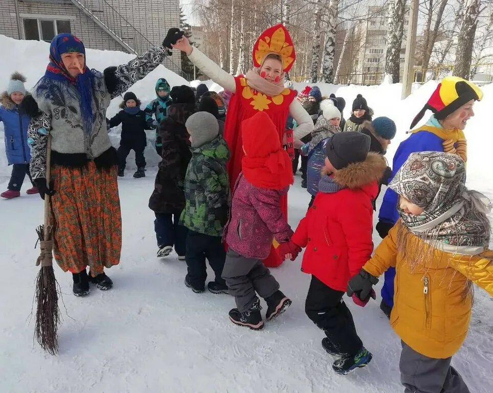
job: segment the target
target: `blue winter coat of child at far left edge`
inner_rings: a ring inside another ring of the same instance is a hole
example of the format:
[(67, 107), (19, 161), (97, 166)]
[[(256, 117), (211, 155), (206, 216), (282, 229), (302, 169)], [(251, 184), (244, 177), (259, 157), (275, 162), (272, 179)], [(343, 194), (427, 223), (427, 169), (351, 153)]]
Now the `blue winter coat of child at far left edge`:
[(31, 161), (31, 148), (28, 145), (30, 121), (29, 116), (19, 113), (17, 105), (4, 92), (0, 97), (0, 122), (4, 123), (5, 152), (9, 165)]

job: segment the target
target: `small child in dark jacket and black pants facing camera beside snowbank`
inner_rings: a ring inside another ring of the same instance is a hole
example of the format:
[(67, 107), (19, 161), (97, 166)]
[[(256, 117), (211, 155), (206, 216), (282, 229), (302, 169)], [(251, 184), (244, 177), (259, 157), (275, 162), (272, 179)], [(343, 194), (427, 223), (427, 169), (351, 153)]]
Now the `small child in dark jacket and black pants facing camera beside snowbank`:
[(118, 148), (118, 176), (125, 176), (125, 165), (130, 150), (135, 151), (135, 163), (137, 171), (133, 173), (134, 178), (146, 176), (146, 160), (144, 149), (147, 145), (145, 130), (153, 129), (146, 123), (145, 113), (140, 108), (140, 100), (132, 92), (127, 92), (123, 96), (120, 107), (123, 111), (118, 112), (109, 120), (109, 128), (122, 125), (120, 147)]

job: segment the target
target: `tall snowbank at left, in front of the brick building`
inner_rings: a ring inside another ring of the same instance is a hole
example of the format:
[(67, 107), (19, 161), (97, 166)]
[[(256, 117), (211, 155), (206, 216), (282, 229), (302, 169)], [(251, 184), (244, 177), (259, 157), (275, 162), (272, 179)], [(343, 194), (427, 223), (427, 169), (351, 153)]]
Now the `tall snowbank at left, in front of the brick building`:
[[(0, 35), (0, 53), (2, 62), (0, 63), (0, 91), (4, 91), (10, 75), (14, 71), (19, 71), (27, 78), (26, 88), (30, 90), (39, 78), (44, 74), (48, 64), (50, 44), (44, 41), (25, 41), (17, 40), (4, 35)], [(5, 56), (4, 56), (5, 55)], [(94, 49), (86, 50), (87, 65), (99, 71), (103, 71), (111, 65), (124, 64), (130, 61), (135, 55), (118, 51), (100, 51)], [(169, 71), (164, 65), (160, 65), (144, 79), (132, 86), (130, 91), (135, 93), (142, 101), (144, 108), (155, 98), (155, 82), (159, 78), (166, 78), (171, 86), (188, 84), (181, 76)], [(111, 101), (106, 117), (111, 118), (120, 109), (119, 105), (123, 98), (117, 97)], [(110, 138), (115, 147), (120, 144), (121, 126), (111, 129)], [(4, 138), (4, 126), (0, 123), (0, 139)], [(145, 157), (148, 166), (156, 165), (160, 158), (154, 149), (154, 131), (147, 131), (147, 147)], [(135, 168), (135, 154), (133, 151), (127, 158), (127, 168)], [(5, 145), (0, 147), (0, 176), (10, 176), (11, 168), (7, 166), (5, 157)]]

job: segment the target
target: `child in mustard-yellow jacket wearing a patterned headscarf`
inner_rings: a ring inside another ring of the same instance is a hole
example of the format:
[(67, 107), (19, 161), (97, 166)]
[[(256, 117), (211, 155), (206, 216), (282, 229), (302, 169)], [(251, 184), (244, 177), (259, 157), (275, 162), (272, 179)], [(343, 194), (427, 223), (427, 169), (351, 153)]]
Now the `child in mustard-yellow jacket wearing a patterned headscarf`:
[(411, 154), (389, 184), (400, 197), (400, 219), (348, 283), (347, 294), (364, 305), (376, 277), (395, 267), (390, 323), (402, 340), (406, 393), (469, 393), (451, 360), (469, 327), (472, 283), (493, 295), (493, 252), (491, 204), (464, 184), (459, 156)]

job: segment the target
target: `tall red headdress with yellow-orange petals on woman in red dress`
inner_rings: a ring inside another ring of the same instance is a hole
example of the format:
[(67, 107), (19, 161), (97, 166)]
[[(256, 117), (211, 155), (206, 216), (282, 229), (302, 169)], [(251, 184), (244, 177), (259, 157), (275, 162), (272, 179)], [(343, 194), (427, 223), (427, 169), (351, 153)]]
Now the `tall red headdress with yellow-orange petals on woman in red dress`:
[(277, 53), (282, 58), (284, 72), (288, 72), (296, 59), (293, 40), (283, 25), (276, 25), (265, 30), (253, 48), (255, 67), (261, 67), (263, 60), (270, 53)]

